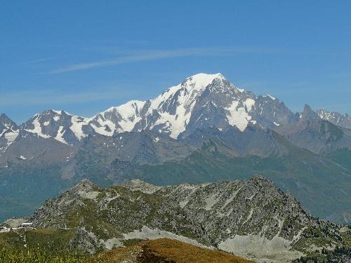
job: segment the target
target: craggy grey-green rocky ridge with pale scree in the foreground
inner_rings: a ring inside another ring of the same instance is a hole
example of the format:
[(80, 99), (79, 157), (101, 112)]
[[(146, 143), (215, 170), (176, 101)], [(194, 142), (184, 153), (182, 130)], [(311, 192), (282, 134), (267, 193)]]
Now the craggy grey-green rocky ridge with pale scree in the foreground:
[(317, 220), (269, 180), (101, 189), (84, 180), (46, 201), (35, 227), (72, 232), (65, 247), (95, 252), (131, 239), (173, 238), (258, 262), (289, 262), (347, 245), (350, 229)]

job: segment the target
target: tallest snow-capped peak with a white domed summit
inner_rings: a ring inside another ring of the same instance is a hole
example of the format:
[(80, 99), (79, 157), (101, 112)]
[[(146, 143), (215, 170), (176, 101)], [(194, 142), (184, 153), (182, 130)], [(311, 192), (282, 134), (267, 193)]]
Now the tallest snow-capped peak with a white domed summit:
[[(256, 97), (251, 91), (235, 87), (222, 74), (190, 76), (153, 100), (139, 103), (143, 108), (139, 107), (140, 114), (133, 115), (133, 123), (128, 127), (135, 132), (154, 130), (173, 138), (188, 135), (197, 128), (222, 130), (236, 126), (243, 131), (249, 123), (255, 124), (256, 119), (264, 127), (293, 119), (293, 114), (279, 100)], [(274, 109), (279, 113), (272, 112)]]

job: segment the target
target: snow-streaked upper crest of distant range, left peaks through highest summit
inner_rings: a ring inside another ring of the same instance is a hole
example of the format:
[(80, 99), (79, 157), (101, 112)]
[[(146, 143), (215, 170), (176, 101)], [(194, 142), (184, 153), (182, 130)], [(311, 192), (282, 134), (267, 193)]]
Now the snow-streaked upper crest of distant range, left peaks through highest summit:
[[(196, 74), (152, 100), (133, 100), (91, 118), (47, 110), (23, 123), (20, 130), (77, 145), (93, 133), (112, 136), (153, 130), (177, 138), (197, 128), (236, 126), (243, 131), (249, 123), (274, 127), (293, 119), (284, 103), (270, 95), (256, 97), (235, 87), (222, 74)], [(12, 141), (15, 131), (12, 137), (8, 135)]]

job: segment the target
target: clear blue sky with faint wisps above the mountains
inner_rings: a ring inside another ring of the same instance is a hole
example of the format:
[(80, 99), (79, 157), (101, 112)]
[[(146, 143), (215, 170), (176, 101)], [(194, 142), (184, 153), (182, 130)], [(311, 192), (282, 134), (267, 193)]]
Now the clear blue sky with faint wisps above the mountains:
[(0, 112), (91, 116), (222, 73), (351, 113), (351, 1), (2, 1)]

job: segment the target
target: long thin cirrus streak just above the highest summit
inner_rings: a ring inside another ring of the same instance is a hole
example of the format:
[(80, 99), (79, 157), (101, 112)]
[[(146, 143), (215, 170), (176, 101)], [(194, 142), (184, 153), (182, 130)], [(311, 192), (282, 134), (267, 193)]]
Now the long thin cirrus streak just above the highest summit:
[(190, 56), (213, 56), (213, 55), (230, 55), (234, 53), (277, 53), (277, 50), (262, 50), (257, 48), (183, 48), (174, 50), (144, 50), (132, 55), (119, 56), (107, 60), (95, 62), (78, 63), (53, 69), (48, 74), (60, 74), (65, 72), (76, 72), (84, 69), (95, 67), (108, 67), (114, 65), (123, 65), (126, 63), (161, 60), (166, 58), (180, 58)]

